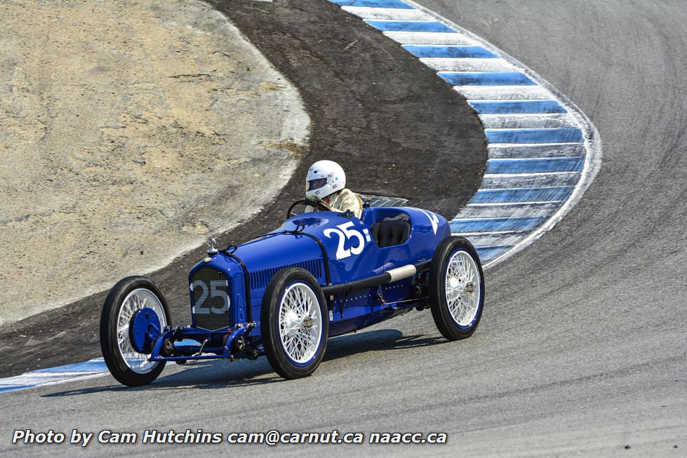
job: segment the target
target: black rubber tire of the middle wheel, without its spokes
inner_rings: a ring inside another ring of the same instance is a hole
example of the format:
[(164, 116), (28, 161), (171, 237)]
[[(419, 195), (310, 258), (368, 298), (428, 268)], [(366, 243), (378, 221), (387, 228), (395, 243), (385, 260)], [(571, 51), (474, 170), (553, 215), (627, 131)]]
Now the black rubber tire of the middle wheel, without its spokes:
[[(281, 298), (289, 285), (302, 282), (313, 290), (320, 308), (322, 332), (319, 348), (314, 358), (307, 365), (294, 364), (284, 351), (279, 335), (279, 306)], [(281, 269), (267, 284), (265, 295), (262, 297), (262, 309), (260, 311), (260, 330), (262, 333), (262, 346), (265, 347), (265, 356), (274, 372), (285, 379), (298, 379), (307, 377), (317, 368), (327, 346), (329, 334), (329, 316), (326, 307), (326, 299), (322, 288), (316, 279), (305, 269), (298, 267), (286, 267)]]

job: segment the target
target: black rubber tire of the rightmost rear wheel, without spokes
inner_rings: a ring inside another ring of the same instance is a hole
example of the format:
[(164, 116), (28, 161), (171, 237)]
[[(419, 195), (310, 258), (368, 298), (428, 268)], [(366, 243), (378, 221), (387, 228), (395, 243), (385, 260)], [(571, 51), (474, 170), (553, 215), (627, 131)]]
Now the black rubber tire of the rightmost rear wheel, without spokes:
[[(480, 278), (479, 307), (474, 321), (467, 328), (461, 328), (453, 321), (451, 312), (448, 309), (448, 303), (446, 302), (445, 278), (446, 270), (448, 269), (448, 260), (458, 251), (465, 251), (472, 257), (479, 271)], [(432, 257), (432, 264), (429, 267), (429, 306), (432, 310), (432, 318), (434, 318), (436, 328), (439, 329), (441, 335), (446, 337), (446, 339), (459, 340), (470, 337), (479, 325), (482, 310), (484, 308), (484, 274), (479, 256), (472, 246), (472, 243), (467, 241), (466, 238), (458, 236), (447, 237), (436, 247), (434, 256)]]

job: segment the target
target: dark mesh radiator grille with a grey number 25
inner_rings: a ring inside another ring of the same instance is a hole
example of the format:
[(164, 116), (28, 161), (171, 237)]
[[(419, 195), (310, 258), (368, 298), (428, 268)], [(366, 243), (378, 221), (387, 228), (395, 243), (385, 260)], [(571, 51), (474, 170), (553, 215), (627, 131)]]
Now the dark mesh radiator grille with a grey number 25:
[(191, 278), (191, 289), (196, 326), (217, 330), (232, 324), (225, 274), (211, 267), (201, 267)]

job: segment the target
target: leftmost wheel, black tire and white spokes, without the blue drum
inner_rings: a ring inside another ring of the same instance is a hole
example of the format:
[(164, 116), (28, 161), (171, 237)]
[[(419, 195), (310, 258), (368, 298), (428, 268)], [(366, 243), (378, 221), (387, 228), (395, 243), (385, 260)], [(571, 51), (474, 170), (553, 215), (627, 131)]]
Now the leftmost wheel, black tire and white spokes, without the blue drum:
[(171, 324), (167, 301), (157, 285), (150, 278), (131, 276), (109, 290), (100, 315), (102, 356), (112, 376), (127, 386), (149, 384), (165, 367), (164, 361), (148, 361), (150, 355), (139, 353), (131, 343), (131, 318), (146, 307), (157, 314), (161, 331)]

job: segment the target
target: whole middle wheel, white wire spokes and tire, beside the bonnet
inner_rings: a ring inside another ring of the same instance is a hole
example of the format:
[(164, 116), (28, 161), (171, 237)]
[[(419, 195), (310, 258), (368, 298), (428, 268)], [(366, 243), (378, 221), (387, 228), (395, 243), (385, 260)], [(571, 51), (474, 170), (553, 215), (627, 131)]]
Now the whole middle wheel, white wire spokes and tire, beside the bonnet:
[(267, 285), (260, 327), (267, 361), (286, 379), (312, 374), (326, 348), (329, 322), (326, 301), (306, 270), (287, 267)]

